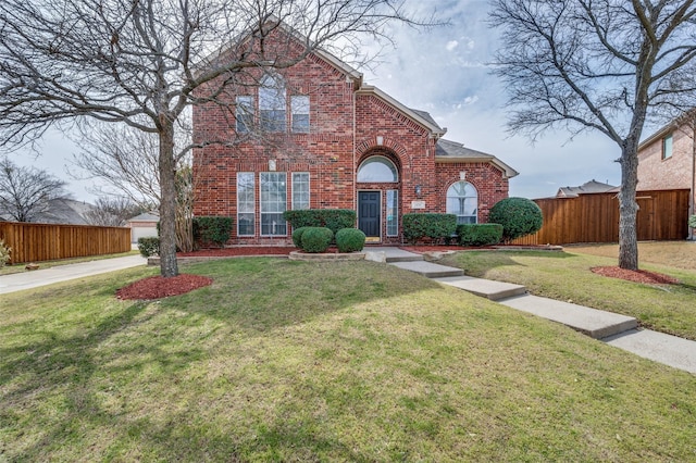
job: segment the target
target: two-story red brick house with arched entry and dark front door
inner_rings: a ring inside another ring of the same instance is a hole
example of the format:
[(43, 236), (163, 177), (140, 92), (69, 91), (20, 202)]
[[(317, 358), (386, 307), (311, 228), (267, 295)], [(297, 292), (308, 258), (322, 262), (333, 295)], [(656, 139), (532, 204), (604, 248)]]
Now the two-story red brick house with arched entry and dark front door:
[(369, 241), (384, 243), (401, 241), (407, 213), (485, 223), (518, 175), (493, 154), (444, 139), (427, 112), (326, 52), (248, 73), (248, 85), (228, 88), (229, 117), (213, 103), (194, 108), (195, 141), (237, 137), (194, 150), (194, 213), (233, 216), (231, 243), (291, 242), (289, 209), (355, 210)]

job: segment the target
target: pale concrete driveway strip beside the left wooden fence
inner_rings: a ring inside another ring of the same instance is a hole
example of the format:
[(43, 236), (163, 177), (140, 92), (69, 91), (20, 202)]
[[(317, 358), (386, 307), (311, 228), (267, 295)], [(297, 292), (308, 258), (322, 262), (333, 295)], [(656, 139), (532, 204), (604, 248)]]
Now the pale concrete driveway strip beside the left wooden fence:
[(101, 273), (137, 267), (145, 264), (147, 264), (147, 260), (141, 255), (128, 255), (125, 258), (101, 259), (77, 264), (57, 265), (46, 270), (0, 275), (0, 295), (37, 288), (69, 279), (84, 278)]

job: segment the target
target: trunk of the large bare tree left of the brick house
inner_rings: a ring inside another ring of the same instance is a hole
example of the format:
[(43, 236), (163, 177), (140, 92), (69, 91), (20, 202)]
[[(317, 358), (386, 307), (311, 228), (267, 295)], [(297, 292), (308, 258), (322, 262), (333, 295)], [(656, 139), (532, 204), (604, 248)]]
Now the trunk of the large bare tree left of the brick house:
[(176, 164), (174, 163), (174, 124), (160, 117), (160, 273), (178, 275), (176, 263)]

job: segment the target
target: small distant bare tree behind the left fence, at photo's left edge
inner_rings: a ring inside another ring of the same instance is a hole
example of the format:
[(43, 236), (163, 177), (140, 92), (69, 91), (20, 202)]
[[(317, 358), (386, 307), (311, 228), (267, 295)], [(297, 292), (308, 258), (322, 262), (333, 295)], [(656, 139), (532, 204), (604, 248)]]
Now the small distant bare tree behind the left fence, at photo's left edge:
[(23, 167), (0, 158), (0, 214), (16, 222), (34, 222), (53, 199), (66, 199), (65, 182), (36, 167)]

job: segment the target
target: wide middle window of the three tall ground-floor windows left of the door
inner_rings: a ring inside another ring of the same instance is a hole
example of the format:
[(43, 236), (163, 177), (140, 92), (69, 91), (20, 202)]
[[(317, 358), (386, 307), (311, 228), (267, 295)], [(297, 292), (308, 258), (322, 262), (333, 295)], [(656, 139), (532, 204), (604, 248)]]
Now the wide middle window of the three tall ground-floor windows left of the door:
[(286, 236), (287, 223), (283, 213), (287, 209), (287, 176), (285, 172), (259, 174), (261, 196), (261, 236)]

